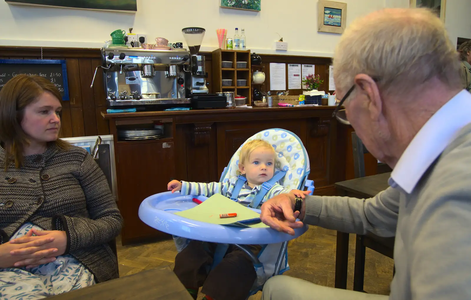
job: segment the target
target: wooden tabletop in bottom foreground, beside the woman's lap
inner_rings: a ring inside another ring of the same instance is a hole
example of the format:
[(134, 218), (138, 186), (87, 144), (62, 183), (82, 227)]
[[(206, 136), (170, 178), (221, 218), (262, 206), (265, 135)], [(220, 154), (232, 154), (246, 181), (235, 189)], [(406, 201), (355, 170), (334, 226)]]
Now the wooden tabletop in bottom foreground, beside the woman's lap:
[(72, 292), (49, 297), (51, 300), (193, 300), (169, 267), (154, 268), (116, 278)]

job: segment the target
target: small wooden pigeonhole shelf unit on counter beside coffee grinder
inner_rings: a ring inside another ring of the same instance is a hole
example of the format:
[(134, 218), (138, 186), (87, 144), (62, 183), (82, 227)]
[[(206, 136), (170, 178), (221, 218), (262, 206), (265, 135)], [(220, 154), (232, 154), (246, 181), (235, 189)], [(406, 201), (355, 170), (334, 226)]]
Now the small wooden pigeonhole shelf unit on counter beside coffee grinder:
[[(231, 61), (234, 68), (222, 68), (222, 61)], [(237, 69), (237, 62), (247, 62), (243, 69)], [(222, 79), (232, 79), (230, 87), (222, 86)], [(245, 79), (244, 87), (237, 87), (237, 79)], [(252, 68), (250, 65), (250, 50), (222, 50), (212, 52), (212, 85), (213, 93), (235, 92), (235, 95), (247, 97), (247, 105), (252, 103)]]

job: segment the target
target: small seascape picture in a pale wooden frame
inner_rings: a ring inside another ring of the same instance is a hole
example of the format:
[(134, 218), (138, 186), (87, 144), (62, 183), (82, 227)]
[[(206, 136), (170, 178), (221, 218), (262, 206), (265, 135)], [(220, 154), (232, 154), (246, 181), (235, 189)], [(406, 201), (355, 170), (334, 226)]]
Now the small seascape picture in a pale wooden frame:
[(319, 0), (317, 32), (343, 33), (347, 23), (347, 3)]

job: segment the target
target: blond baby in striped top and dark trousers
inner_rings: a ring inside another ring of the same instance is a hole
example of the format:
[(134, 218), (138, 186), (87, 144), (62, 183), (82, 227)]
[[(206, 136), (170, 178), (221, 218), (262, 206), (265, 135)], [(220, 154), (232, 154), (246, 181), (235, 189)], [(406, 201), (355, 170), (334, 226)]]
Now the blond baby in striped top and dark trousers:
[[(237, 201), (242, 205), (249, 205), (260, 185), (273, 177), (275, 171), (275, 150), (264, 140), (252, 140), (242, 147), (239, 156), (239, 172), (245, 175), (247, 181), (240, 190)], [(227, 182), (179, 182), (172, 180), (167, 188), (173, 192), (180, 191), (182, 195), (203, 195), (211, 197), (220, 193), (226, 197), (232, 196), (237, 176)], [(263, 197), (260, 205), (265, 200), (281, 193), (292, 193), (304, 198), (309, 191), (299, 189), (285, 189), (279, 184), (274, 184)], [(187, 288), (188, 292), (196, 299), (198, 289), (206, 296), (206, 300), (245, 300), (252, 288), (257, 274), (248, 255), (234, 245), (230, 245), (222, 261), (208, 272), (216, 248), (215, 243), (206, 243), (192, 240), (175, 257), (173, 271), (179, 280)], [(260, 245), (247, 245), (252, 253), (260, 252)], [(237, 283), (237, 284), (235, 284)]]

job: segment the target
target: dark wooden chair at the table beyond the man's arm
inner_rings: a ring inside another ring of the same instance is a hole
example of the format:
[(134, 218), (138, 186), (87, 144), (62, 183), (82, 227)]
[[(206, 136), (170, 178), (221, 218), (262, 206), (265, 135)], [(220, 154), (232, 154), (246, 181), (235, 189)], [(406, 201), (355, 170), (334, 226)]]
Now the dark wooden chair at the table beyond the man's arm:
[[(368, 150), (364, 147), (363, 142), (358, 138), (355, 132), (352, 132), (353, 146), (353, 167), (355, 170), (355, 178), (365, 177), (365, 160), (364, 154)], [(378, 168), (379, 169), (379, 168)], [(388, 167), (382, 166), (381, 173), (390, 172)], [(393, 258), (394, 237), (378, 237), (371, 232), (366, 235), (357, 234), (357, 244), (355, 249), (355, 268), (353, 272), (353, 290), (363, 291), (363, 282), (365, 279), (365, 251), (370, 248), (382, 255)]]

